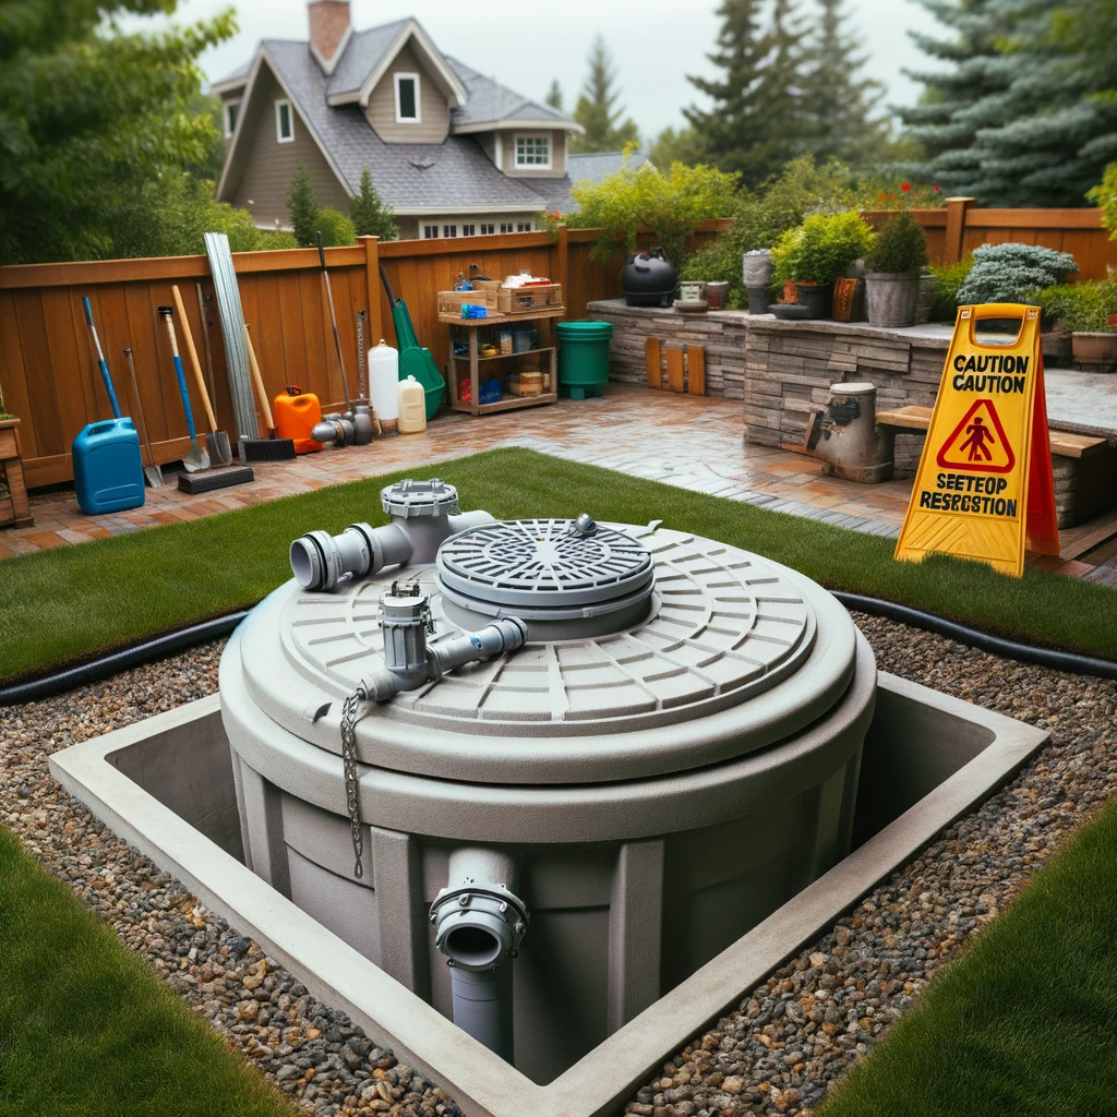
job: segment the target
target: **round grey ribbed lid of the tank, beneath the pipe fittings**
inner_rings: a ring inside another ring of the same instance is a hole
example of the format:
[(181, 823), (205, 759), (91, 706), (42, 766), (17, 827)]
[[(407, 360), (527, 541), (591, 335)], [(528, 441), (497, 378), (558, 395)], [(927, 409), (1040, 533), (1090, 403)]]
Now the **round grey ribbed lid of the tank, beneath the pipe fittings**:
[[(712, 540), (622, 531), (655, 566), (642, 620), (528, 643), (370, 706), (359, 754), (381, 767), (479, 782), (632, 779), (763, 747), (841, 697), (856, 629), (825, 591)], [(435, 567), (411, 576), (430, 594), (433, 639), (459, 632)], [(240, 660), (266, 717), (340, 752), (341, 699), (383, 656), (378, 601), (392, 577), (328, 594), (290, 582), (254, 610)]]

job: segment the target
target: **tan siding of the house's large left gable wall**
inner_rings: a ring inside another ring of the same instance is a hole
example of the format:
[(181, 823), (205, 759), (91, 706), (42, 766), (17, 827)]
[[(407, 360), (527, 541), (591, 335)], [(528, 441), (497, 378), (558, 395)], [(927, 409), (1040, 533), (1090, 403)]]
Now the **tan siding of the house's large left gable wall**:
[[(284, 97), (284, 92), (266, 66), (260, 69), (258, 83), (249, 115), (240, 123), (247, 131), (239, 144), (239, 181), (233, 182), (230, 176), (222, 200), (247, 209), (261, 228), (276, 228), (277, 219), (279, 227), (290, 228), (287, 191), (295, 169), (305, 163), (318, 204), (349, 212), (349, 195), (296, 107), (293, 106), (295, 139), (290, 143), (276, 140), (275, 103)], [(246, 143), (249, 137), (251, 142)]]

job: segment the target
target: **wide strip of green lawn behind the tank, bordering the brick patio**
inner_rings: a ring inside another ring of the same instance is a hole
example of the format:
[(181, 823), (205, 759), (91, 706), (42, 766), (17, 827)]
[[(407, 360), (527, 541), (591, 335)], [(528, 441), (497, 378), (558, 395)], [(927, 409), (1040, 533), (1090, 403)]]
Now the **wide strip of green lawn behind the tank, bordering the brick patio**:
[[(0, 680), (88, 658), (259, 601), (289, 577), (296, 535), (384, 522), (379, 491), (403, 474), (337, 485), (130, 535), (0, 563)], [(1117, 658), (1117, 596), (1028, 571), (1022, 580), (935, 555), (892, 561), (890, 540), (780, 515), (524, 449), (411, 470), (458, 486), (464, 509), (574, 516), (694, 531), (794, 566), (831, 589), (926, 609), (990, 632)]]

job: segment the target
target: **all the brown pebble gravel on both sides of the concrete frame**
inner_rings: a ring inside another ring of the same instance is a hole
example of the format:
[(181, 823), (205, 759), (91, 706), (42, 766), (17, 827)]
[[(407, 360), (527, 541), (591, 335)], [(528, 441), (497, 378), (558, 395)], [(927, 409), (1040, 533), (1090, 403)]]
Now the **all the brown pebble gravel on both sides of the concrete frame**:
[[(1051, 731), (1052, 744), (639, 1090), (639, 1117), (809, 1117), (968, 937), (1117, 790), (1117, 684), (1025, 667), (855, 614), (878, 663)], [(47, 755), (217, 689), (223, 641), (95, 688), (0, 709), (0, 821), (302, 1109), (458, 1107), (102, 827)]]

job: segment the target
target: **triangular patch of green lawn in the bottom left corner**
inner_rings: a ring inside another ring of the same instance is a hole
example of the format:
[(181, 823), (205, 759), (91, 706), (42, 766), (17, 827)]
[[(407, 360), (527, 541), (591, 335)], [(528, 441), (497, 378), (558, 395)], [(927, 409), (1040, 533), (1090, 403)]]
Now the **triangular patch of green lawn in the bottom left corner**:
[(294, 1117), (0, 828), (0, 1117)]

